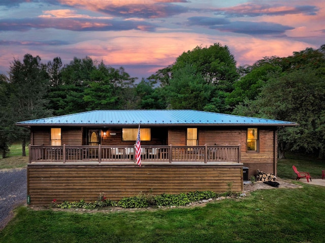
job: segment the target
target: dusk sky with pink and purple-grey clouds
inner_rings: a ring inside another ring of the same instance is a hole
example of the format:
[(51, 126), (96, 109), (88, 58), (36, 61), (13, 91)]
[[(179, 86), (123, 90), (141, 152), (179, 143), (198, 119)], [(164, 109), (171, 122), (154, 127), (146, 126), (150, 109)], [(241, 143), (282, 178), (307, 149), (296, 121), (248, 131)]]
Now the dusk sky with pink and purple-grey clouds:
[(26, 53), (86, 56), (146, 78), (183, 52), (228, 46), (238, 65), (325, 44), (324, 0), (1, 0), (0, 73)]

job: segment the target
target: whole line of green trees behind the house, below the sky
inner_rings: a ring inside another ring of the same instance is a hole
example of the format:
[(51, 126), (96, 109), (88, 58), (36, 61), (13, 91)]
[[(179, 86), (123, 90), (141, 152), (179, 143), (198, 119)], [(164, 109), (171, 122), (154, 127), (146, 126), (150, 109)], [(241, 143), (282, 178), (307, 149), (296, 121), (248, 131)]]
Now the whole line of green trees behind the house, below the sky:
[[(96, 109), (194, 109), (295, 121), (299, 127), (279, 131), (285, 151), (324, 157), (325, 45), (288, 57), (265, 57), (236, 66), (227, 46), (198, 46), (140, 82), (123, 67), (90, 57), (63, 65), (25, 54), (0, 74), (0, 151), (29, 141), (22, 120)], [(24, 153), (24, 151), (23, 151)]]

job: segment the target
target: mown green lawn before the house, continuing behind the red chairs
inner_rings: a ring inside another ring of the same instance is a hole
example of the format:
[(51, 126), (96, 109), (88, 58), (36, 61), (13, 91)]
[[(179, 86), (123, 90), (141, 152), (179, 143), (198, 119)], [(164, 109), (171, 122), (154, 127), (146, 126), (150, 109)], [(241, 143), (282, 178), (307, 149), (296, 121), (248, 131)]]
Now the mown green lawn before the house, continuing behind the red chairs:
[[(325, 169), (324, 161), (290, 159), (279, 161), (284, 179), (295, 178), (292, 163), (315, 175)], [(19, 207), (0, 242), (324, 242), (325, 187), (294, 183), (302, 188), (257, 190), (205, 207), (117, 212)]]

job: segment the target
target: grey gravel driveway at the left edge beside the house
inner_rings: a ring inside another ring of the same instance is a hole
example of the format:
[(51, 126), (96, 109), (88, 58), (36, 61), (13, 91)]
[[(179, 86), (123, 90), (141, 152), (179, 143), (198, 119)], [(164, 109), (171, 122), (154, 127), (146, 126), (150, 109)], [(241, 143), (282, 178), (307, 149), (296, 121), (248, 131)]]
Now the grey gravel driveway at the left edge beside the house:
[(12, 216), (12, 210), (26, 204), (26, 168), (0, 171), (0, 229)]

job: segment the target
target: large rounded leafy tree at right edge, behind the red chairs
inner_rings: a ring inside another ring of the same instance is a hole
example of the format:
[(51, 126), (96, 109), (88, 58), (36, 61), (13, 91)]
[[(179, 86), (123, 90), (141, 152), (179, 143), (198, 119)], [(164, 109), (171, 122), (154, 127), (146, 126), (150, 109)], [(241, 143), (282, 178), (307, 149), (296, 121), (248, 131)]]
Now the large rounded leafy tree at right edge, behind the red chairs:
[[(274, 88), (276, 87), (276, 89)], [(295, 70), (269, 81), (260, 99), (269, 117), (296, 121), (299, 127), (279, 133), (284, 150), (325, 151), (325, 78), (314, 70)]]

